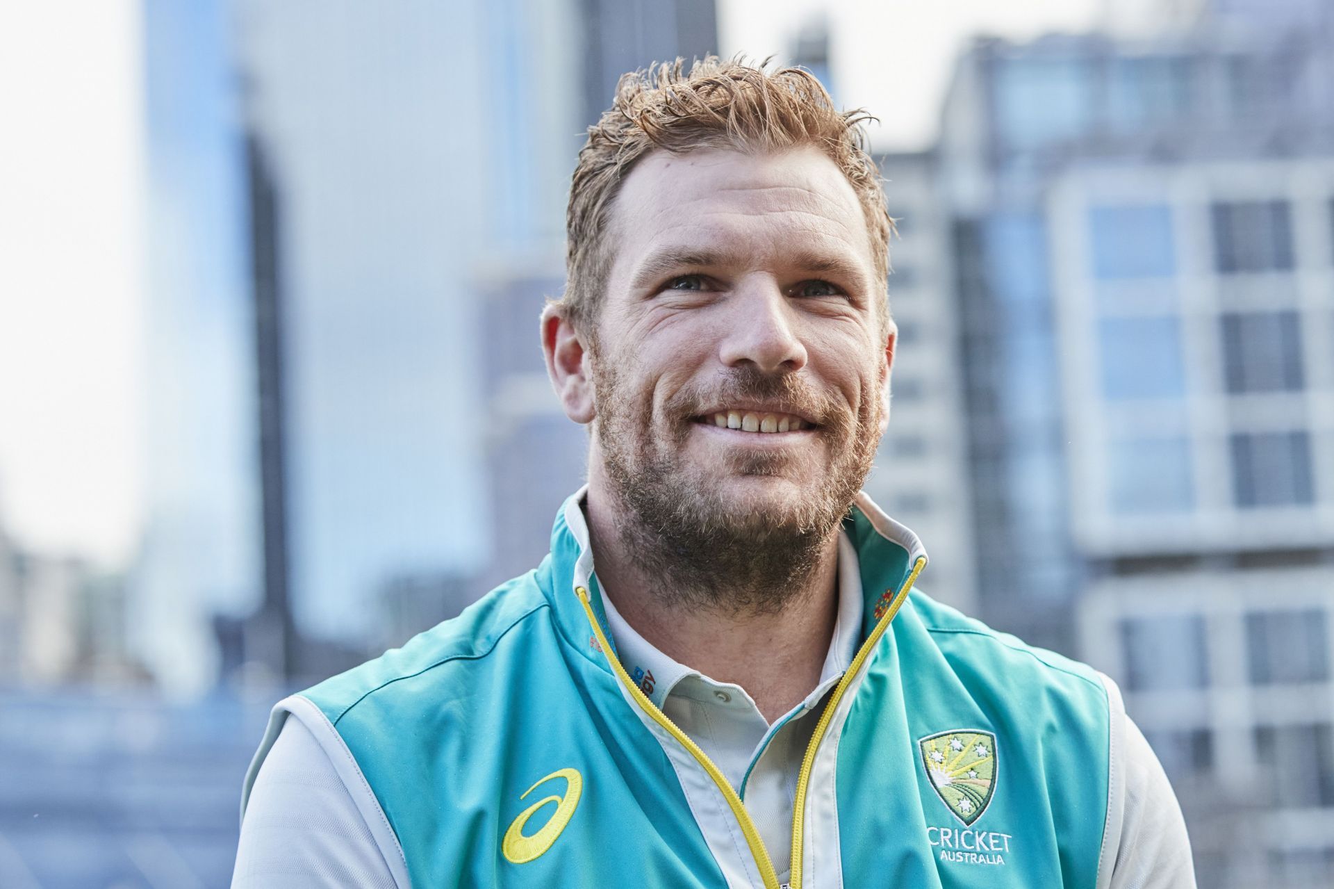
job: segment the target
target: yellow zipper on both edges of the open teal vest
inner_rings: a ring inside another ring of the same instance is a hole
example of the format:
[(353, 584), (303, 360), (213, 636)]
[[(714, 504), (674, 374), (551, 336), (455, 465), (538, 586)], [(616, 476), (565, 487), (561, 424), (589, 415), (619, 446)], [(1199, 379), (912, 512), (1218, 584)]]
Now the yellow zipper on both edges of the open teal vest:
[[(802, 826), (806, 817), (806, 793), (811, 782), (811, 769), (815, 765), (815, 753), (820, 746), (820, 741), (824, 738), (824, 733), (828, 730), (830, 722), (834, 718), (834, 711), (838, 709), (838, 702), (847, 691), (848, 686), (852, 685), (854, 677), (866, 663), (870, 657), (871, 650), (875, 643), (879, 642), (880, 637), (884, 635), (884, 630), (888, 629), (890, 621), (898, 614), (899, 609), (903, 606), (903, 601), (907, 598), (908, 591), (912, 589), (912, 583), (916, 581), (918, 574), (926, 567), (926, 558), (918, 557), (918, 561), (912, 566), (912, 573), (908, 574), (908, 579), (903, 583), (903, 587), (894, 597), (890, 607), (886, 610), (884, 617), (880, 618), (879, 623), (867, 637), (866, 642), (858, 650), (856, 657), (852, 658), (852, 665), (839, 679), (839, 683), (834, 686), (834, 694), (830, 697), (828, 703), (824, 706), (824, 711), (820, 714), (820, 721), (815, 723), (815, 734), (811, 735), (811, 742), (806, 748), (806, 756), (802, 758), (802, 770), (796, 777), (796, 798), (792, 804), (792, 866), (791, 877), (788, 878), (787, 886), (790, 889), (802, 888)], [(755, 822), (751, 821), (750, 813), (746, 812), (746, 805), (742, 802), (740, 797), (732, 789), (732, 785), (727, 781), (727, 777), (719, 770), (714, 761), (708, 758), (699, 745), (690, 739), (684, 731), (682, 731), (675, 722), (672, 722), (666, 713), (663, 713), (658, 705), (648, 699), (638, 685), (626, 673), (626, 667), (622, 666), (620, 658), (612, 655), (611, 643), (607, 641), (606, 634), (602, 631), (602, 625), (598, 622), (598, 617), (592, 611), (592, 602), (588, 599), (588, 590), (582, 586), (575, 587), (575, 593), (579, 595), (579, 602), (584, 607), (584, 614), (588, 617), (588, 623), (592, 626), (594, 635), (598, 638), (598, 645), (602, 646), (603, 657), (607, 658), (607, 663), (611, 665), (612, 673), (620, 679), (620, 682), (630, 689), (630, 697), (634, 698), (635, 703), (639, 705), (644, 713), (652, 717), (654, 722), (664, 727), (668, 734), (671, 734), (676, 741), (680, 742), (686, 750), (690, 752), (692, 757), (703, 766), (708, 777), (714, 780), (718, 785), (719, 792), (722, 792), (723, 798), (727, 800), (727, 805), (731, 808), (732, 814), (736, 816), (736, 822), (742, 826), (742, 833), (746, 836), (746, 844), (750, 846), (751, 856), (755, 858), (755, 864), (759, 866), (760, 878), (764, 881), (764, 889), (780, 889), (778, 882), (778, 874), (774, 870), (774, 861), (768, 857), (768, 849), (764, 848), (764, 841), (759, 836), (759, 830), (755, 829)]]

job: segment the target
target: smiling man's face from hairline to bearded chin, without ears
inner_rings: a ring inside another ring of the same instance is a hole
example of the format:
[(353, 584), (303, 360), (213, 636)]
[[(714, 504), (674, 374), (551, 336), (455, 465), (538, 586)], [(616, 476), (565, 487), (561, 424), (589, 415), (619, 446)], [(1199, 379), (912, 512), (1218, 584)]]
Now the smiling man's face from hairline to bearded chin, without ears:
[(655, 152), (608, 243), (594, 459), (622, 498), (734, 543), (827, 533), (870, 471), (894, 347), (838, 167), (815, 148)]

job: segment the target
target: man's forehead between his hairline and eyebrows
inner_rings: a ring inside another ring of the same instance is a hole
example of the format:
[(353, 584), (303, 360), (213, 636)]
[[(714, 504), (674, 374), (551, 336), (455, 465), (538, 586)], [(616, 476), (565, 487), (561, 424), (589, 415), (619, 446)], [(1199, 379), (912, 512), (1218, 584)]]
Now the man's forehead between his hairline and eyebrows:
[(814, 145), (762, 155), (655, 151), (626, 178), (610, 228), (616, 272), (664, 246), (728, 246), (763, 260), (799, 244), (863, 263), (874, 278), (856, 192)]

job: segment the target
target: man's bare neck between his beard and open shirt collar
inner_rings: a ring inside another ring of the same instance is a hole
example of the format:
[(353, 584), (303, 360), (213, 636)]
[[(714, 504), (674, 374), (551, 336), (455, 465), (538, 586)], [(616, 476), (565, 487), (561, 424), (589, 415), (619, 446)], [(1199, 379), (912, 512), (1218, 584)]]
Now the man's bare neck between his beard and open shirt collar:
[(646, 551), (654, 538), (595, 482), (590, 478), (586, 514), (598, 579), (648, 643), (715, 681), (742, 686), (770, 722), (819, 685), (838, 617), (838, 526), (795, 547), (807, 551), (794, 553), (779, 597), (756, 599), (756, 582), (772, 583), (772, 570), (758, 578), (718, 571), (700, 590), (699, 558), (678, 566), (670, 547)]

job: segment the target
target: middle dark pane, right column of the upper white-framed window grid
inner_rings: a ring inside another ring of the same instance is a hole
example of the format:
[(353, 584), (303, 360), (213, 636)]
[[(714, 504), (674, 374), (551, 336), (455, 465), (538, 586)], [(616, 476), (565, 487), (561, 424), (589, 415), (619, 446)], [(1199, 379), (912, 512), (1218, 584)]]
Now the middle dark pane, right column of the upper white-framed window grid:
[(1227, 312), (1221, 320), (1229, 392), (1302, 388), (1302, 331), (1295, 311)]

